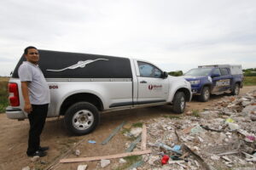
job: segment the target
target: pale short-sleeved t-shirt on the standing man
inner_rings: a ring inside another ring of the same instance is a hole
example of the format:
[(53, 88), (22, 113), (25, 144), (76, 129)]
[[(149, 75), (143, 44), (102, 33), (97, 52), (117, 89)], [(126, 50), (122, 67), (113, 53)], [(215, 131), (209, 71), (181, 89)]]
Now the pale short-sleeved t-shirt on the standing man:
[(29, 99), (32, 105), (49, 104), (49, 86), (38, 65), (24, 61), (19, 67), (18, 74), (20, 82), (29, 82)]

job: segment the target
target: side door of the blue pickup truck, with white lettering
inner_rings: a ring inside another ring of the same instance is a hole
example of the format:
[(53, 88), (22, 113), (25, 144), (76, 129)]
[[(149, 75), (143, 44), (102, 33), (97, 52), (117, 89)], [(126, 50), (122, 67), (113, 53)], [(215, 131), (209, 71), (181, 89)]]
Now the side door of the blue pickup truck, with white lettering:
[(230, 88), (230, 72), (227, 68), (214, 69), (212, 74), (219, 75), (219, 77), (212, 77), (212, 93), (226, 91)]

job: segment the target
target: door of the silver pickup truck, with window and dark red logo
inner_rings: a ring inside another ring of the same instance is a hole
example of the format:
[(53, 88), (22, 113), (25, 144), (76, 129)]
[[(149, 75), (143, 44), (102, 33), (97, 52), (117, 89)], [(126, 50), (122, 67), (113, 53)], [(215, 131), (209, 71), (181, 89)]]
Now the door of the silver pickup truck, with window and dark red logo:
[(168, 78), (161, 78), (163, 71), (143, 61), (137, 61), (137, 66), (139, 70), (137, 104), (165, 102), (168, 97), (169, 81)]

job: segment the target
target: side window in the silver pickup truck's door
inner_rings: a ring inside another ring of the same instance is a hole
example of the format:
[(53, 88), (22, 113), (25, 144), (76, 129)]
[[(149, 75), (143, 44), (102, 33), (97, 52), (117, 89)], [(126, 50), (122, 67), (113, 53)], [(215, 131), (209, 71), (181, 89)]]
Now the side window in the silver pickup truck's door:
[(141, 77), (154, 77), (154, 78), (161, 77), (161, 71), (154, 65), (141, 62), (141, 61), (138, 61), (137, 64), (139, 67)]

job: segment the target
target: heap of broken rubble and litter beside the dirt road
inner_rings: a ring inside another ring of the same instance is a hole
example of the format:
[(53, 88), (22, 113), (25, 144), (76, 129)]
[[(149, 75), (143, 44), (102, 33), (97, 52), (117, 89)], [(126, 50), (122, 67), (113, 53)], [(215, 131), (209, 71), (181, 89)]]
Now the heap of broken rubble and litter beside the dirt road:
[(255, 169), (255, 116), (256, 90), (226, 96), (199, 116), (150, 120), (147, 148), (153, 153), (137, 169)]

